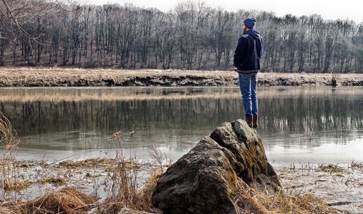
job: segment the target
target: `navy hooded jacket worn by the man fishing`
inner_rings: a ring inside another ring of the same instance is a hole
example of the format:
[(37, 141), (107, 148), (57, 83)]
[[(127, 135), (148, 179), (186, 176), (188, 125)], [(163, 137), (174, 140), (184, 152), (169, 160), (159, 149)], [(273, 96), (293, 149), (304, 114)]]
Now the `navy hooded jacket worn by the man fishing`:
[(233, 56), (233, 65), (238, 73), (254, 73), (261, 68), (262, 38), (260, 32), (247, 30), (238, 38)]

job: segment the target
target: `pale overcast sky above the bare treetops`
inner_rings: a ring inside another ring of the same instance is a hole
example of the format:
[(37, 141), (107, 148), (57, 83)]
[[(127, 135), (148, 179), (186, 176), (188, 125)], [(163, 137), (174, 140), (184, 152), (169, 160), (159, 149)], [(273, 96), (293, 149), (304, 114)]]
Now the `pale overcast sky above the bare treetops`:
[[(161, 11), (168, 11), (175, 8), (180, 2), (186, 2), (183, 0), (76, 0), (78, 3), (83, 4), (105, 4), (119, 3), (121, 5), (125, 3), (132, 3), (139, 7), (155, 7)], [(194, 1), (198, 2), (198, 1)], [(362, 1), (358, 0), (343, 0), (343, 1), (331, 1), (331, 0), (205, 0), (205, 4), (212, 8), (219, 6), (223, 7), (227, 11), (237, 11), (238, 9), (255, 9), (262, 11), (275, 12), (277, 16), (284, 16), (287, 13), (291, 13), (295, 16), (310, 15), (313, 13), (320, 14), (325, 19), (345, 19), (349, 18), (356, 23), (363, 22), (363, 11), (360, 6)]]

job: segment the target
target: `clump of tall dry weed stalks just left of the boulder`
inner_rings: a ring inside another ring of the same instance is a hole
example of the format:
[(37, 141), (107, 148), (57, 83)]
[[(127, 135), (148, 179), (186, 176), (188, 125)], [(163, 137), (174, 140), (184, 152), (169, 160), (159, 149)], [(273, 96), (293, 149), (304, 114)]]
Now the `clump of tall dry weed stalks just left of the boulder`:
[[(114, 168), (110, 177), (110, 183), (107, 185), (109, 190), (107, 198), (98, 206), (97, 213), (117, 213), (117, 211), (121, 210), (123, 207), (133, 210), (158, 212), (158, 210), (151, 205), (151, 196), (159, 179), (158, 176), (162, 172), (162, 170), (160, 170), (162, 166), (150, 168), (150, 177), (142, 182), (138, 174), (139, 167), (136, 161), (135, 151), (134, 157), (131, 157), (130, 151), (130, 160), (126, 160), (123, 156), (121, 147), (123, 142), (119, 137), (120, 133), (121, 132), (116, 132), (113, 134), (113, 137), (118, 140), (121, 149), (120, 152), (117, 152), (117, 167)], [(134, 131), (130, 132), (130, 135), (134, 135)], [(160, 154), (161, 153), (156, 153), (152, 158), (160, 159)], [(132, 164), (131, 167), (130, 163)]]

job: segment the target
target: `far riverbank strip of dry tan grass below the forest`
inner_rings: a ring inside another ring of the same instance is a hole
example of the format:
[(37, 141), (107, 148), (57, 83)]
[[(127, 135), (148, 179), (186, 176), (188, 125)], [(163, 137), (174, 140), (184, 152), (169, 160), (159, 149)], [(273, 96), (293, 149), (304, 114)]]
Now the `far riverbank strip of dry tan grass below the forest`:
[[(363, 74), (259, 73), (260, 86), (361, 86)], [(234, 71), (3, 68), (0, 86), (236, 86)]]

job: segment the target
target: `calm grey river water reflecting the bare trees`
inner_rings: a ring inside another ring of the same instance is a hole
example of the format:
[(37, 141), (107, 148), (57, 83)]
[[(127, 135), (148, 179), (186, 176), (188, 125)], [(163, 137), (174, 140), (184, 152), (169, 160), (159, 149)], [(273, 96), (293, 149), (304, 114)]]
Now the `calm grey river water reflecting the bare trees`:
[[(363, 87), (257, 93), (257, 132), (270, 161), (363, 161)], [(221, 123), (244, 118), (238, 87), (0, 88), (0, 104), (23, 140), (18, 159), (25, 160), (112, 153), (117, 131), (123, 149), (134, 147), (140, 158), (148, 158), (149, 142), (178, 159)]]

